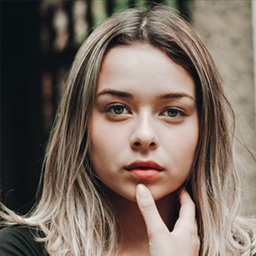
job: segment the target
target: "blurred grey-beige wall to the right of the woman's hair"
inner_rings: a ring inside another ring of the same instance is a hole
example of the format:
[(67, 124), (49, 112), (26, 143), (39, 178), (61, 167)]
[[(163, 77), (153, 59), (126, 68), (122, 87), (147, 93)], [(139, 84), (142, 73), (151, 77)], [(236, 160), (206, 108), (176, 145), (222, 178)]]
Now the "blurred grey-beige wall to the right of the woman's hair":
[[(192, 22), (224, 79), (237, 117), (237, 137), (255, 154), (255, 88), (250, 0), (194, 0)], [(255, 24), (256, 25), (256, 24)], [(256, 215), (256, 162), (236, 143), (244, 212)]]

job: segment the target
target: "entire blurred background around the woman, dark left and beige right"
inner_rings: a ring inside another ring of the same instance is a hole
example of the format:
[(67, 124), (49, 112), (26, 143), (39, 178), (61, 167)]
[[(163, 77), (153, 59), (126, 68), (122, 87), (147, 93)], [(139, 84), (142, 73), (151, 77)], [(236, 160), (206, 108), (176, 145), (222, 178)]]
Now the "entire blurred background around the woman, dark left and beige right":
[(1, 0), (1, 202), (33, 205), (62, 80), (93, 28), (129, 7), (178, 9), (192, 22), (223, 76), (237, 115), (245, 214), (256, 214), (253, 0)]

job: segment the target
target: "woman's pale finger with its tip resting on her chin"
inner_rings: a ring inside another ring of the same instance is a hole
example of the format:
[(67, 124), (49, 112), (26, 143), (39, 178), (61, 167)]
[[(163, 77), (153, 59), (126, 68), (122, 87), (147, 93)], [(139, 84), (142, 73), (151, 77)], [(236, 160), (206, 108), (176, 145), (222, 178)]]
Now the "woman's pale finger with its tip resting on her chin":
[(156, 208), (155, 201), (146, 186), (142, 184), (137, 186), (136, 199), (144, 218), (149, 238), (159, 232), (169, 232)]

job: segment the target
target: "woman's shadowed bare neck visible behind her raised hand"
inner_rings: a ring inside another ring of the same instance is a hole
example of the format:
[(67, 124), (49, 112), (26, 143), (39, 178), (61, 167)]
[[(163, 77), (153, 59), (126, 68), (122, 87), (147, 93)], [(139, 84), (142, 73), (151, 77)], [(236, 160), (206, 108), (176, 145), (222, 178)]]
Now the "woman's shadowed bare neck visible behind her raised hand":
[[(120, 255), (149, 255), (148, 235), (143, 217), (136, 202), (109, 192), (120, 225)], [(176, 221), (177, 196), (170, 194), (156, 202), (158, 211), (170, 230)]]

